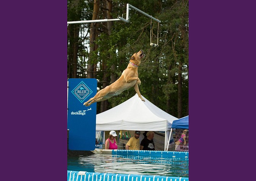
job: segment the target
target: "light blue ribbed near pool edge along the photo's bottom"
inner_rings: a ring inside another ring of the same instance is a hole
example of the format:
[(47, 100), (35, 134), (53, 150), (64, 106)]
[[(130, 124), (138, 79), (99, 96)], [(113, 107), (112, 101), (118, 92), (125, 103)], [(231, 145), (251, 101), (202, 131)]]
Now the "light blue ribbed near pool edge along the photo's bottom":
[(67, 172), (67, 181), (188, 181), (188, 177), (132, 175), (115, 173)]

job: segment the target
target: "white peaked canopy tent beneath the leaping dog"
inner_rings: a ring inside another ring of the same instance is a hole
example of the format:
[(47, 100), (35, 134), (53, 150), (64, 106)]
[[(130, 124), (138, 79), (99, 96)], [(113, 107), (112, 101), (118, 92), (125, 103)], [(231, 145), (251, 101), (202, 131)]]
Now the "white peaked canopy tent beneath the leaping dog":
[[(143, 97), (143, 96), (142, 96)], [(140, 130), (140, 131), (165, 131), (165, 145), (169, 143), (172, 122), (177, 120), (161, 110), (145, 97), (141, 101), (137, 94), (130, 99), (96, 115), (96, 131), (110, 130)], [(168, 135), (167, 135), (168, 132)]]

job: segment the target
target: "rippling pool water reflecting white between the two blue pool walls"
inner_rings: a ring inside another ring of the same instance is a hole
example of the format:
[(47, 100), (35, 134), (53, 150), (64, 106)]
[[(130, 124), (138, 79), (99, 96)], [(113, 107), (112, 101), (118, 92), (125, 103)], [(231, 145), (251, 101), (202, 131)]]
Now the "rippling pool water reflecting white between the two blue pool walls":
[(67, 170), (188, 177), (188, 158), (93, 154), (68, 157)]

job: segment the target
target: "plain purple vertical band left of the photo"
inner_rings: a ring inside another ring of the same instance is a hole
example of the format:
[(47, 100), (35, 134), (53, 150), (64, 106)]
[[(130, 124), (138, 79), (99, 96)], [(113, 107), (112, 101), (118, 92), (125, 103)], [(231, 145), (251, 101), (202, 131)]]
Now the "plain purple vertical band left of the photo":
[(1, 180), (66, 180), (67, 2), (0, 9)]

